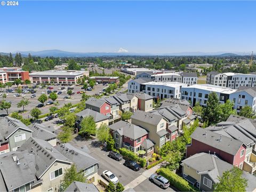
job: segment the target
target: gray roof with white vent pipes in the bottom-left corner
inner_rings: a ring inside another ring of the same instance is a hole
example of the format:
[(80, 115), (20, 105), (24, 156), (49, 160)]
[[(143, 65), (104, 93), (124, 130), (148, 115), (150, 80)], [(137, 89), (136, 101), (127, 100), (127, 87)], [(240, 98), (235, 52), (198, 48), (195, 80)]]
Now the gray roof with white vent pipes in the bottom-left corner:
[[(20, 164), (17, 163), (17, 159)], [(28, 154), (28, 151), (11, 151), (0, 156), (1, 179), (3, 179), (1, 182), (5, 183), (8, 191), (36, 181), (34, 159), (35, 156)]]

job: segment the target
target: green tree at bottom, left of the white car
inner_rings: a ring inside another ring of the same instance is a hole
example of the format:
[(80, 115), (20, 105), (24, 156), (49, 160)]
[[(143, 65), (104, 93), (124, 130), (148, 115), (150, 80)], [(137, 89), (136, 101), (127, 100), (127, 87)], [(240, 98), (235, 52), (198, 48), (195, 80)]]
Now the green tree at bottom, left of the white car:
[(63, 190), (65, 190), (73, 181), (85, 182), (86, 178), (84, 177), (83, 172), (77, 172), (77, 167), (75, 164), (72, 164), (70, 168), (65, 170), (63, 180)]

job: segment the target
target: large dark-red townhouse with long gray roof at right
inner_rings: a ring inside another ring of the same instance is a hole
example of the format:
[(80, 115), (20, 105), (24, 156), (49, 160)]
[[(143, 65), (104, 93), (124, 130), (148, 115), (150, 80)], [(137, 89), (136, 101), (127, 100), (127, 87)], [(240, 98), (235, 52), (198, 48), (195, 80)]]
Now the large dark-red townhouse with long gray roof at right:
[(223, 161), (243, 169), (246, 146), (242, 141), (197, 127), (191, 134), (191, 143), (187, 146), (186, 158), (202, 152), (215, 154)]

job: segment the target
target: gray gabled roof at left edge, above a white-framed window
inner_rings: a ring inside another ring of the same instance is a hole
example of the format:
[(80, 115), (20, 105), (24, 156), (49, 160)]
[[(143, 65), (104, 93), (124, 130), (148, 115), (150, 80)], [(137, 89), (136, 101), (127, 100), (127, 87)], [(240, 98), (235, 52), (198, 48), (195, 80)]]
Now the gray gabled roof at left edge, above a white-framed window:
[(23, 124), (20, 120), (6, 116), (0, 119), (0, 135), (3, 138), (9, 138), (18, 129), (27, 130), (32, 132), (27, 125)]

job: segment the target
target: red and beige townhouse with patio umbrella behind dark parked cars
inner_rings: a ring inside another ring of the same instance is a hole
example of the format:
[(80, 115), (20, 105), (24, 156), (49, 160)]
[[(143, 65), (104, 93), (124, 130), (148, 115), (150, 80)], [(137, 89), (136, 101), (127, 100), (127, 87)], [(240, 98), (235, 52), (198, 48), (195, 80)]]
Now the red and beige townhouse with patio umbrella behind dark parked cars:
[(134, 153), (145, 150), (146, 156), (154, 153), (154, 143), (148, 139), (148, 132), (140, 126), (119, 121), (109, 126), (116, 148), (126, 148)]

